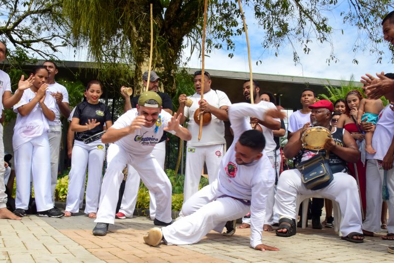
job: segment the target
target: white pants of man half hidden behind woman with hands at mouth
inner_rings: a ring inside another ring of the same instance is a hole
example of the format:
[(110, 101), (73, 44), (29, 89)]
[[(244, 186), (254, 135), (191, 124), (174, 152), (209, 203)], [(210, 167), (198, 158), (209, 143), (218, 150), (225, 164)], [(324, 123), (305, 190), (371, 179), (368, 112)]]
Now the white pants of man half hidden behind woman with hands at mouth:
[(60, 143), (62, 141), (62, 126), (49, 126), (49, 148), (51, 151), (51, 194), (55, 204), (55, 188), (58, 184)]

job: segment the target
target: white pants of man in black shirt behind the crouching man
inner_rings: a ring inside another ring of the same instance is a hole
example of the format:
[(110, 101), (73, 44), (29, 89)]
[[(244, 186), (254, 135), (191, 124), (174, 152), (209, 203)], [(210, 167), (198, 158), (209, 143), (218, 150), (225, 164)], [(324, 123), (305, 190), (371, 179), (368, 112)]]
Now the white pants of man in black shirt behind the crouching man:
[[(152, 155), (156, 158), (162, 169), (164, 169), (165, 161), (165, 140), (156, 144), (153, 148)], [(122, 212), (126, 217), (132, 217), (134, 213), (135, 204), (137, 202), (139, 181), (141, 177), (138, 172), (131, 166), (127, 166), (127, 179), (125, 185), (125, 192), (122, 197), (122, 204), (120, 205), (119, 212)], [(149, 192), (149, 214), (151, 219), (155, 219), (156, 215), (156, 199), (155, 196)]]

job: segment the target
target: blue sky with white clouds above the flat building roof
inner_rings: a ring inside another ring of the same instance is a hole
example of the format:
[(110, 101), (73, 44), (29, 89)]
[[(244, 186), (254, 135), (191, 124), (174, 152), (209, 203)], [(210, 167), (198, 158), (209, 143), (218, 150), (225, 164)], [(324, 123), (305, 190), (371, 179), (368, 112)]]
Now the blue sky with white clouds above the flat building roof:
[[(361, 75), (365, 73), (394, 72), (387, 42), (380, 45), (380, 49), (385, 52), (381, 64), (376, 63), (377, 56), (369, 53), (368, 46), (365, 46), (364, 50), (358, 50), (357, 53), (353, 52), (358, 37), (361, 40), (357, 44), (362, 46), (365, 36), (360, 35), (355, 27), (342, 25), (342, 19), (338, 15), (339, 8), (328, 13), (329, 23), (334, 29), (331, 35), (333, 52), (339, 60), (337, 63), (331, 62), (330, 65), (326, 63), (331, 52), (329, 43), (319, 44), (314, 41), (310, 44), (311, 51), (308, 55), (304, 54), (301, 46), (299, 46), (297, 53), (300, 57), (300, 64), (297, 65), (293, 61), (293, 48), (290, 44), (284, 44), (279, 49), (278, 57), (275, 56), (275, 50), (263, 50), (261, 45), (264, 37), (263, 31), (257, 26), (251, 9), (244, 7), (244, 10), (252, 50), (253, 72), (340, 80), (349, 80), (354, 75), (356, 81), (360, 80)], [(344, 30), (344, 34), (341, 33), (341, 29)], [(233, 58), (228, 57), (229, 52), (227, 50), (214, 50), (213, 53), (209, 54), (209, 57), (205, 58), (205, 68), (249, 72), (245, 34), (236, 37), (235, 42), (236, 50)], [(197, 52), (191, 55), (188, 48), (183, 52), (182, 61), (186, 62), (189, 56), (191, 56), (191, 60), (188, 62), (188, 66), (200, 68), (201, 60), (198, 58)], [(74, 51), (67, 49), (63, 52), (61, 58), (71, 61), (86, 61), (86, 50), (77, 50), (74, 57)], [(357, 59), (359, 64), (353, 64), (353, 59)], [(263, 63), (256, 65), (256, 62), (260, 60)]]

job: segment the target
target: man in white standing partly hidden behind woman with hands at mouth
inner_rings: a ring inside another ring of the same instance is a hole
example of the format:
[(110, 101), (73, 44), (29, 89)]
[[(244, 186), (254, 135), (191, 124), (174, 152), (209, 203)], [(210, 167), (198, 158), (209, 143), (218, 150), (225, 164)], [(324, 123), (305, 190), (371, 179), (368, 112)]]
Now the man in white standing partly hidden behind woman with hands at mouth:
[(49, 147), (51, 149), (51, 194), (52, 202), (55, 204), (55, 188), (58, 183), (58, 168), (60, 143), (62, 141), (62, 122), (60, 115), (66, 119), (70, 116), (70, 108), (68, 107), (68, 93), (65, 86), (55, 81), (55, 75), (59, 72), (58, 67), (53, 61), (45, 61), (42, 66), (46, 66), (49, 71), (47, 94), (53, 96), (56, 100), (55, 120), (49, 122)]

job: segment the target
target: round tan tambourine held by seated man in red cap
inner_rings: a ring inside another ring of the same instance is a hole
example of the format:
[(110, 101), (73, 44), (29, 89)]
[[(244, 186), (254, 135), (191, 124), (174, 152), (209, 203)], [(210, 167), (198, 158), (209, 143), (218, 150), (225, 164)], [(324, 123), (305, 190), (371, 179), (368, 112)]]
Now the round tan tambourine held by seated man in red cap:
[(324, 127), (308, 128), (301, 136), (302, 147), (309, 150), (323, 150), (327, 139), (331, 139), (331, 132)]

